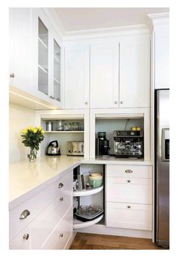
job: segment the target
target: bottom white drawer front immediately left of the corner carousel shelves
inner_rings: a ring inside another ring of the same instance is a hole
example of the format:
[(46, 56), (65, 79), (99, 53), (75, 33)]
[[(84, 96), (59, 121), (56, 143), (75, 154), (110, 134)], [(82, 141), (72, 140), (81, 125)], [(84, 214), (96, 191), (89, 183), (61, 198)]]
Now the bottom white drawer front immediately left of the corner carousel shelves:
[(65, 249), (72, 236), (72, 208), (57, 224), (51, 236), (44, 242), (41, 249)]

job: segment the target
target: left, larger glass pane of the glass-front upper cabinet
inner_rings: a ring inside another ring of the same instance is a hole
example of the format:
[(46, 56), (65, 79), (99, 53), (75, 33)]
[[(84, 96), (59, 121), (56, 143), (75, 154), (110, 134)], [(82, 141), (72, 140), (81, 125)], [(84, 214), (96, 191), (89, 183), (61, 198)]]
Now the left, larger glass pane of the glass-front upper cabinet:
[(38, 90), (48, 95), (48, 29), (38, 17)]

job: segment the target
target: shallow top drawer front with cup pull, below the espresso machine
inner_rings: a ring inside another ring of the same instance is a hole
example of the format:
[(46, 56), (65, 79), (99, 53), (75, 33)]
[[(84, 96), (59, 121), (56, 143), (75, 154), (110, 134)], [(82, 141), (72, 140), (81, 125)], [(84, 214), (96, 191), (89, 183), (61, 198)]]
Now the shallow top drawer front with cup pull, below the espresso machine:
[(130, 178), (152, 178), (152, 167), (146, 165), (106, 165), (106, 176), (130, 177)]

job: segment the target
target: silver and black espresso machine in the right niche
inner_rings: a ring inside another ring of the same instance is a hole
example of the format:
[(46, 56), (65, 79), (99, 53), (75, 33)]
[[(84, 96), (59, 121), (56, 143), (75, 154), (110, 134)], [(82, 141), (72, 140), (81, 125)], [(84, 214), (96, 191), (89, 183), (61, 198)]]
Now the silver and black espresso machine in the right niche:
[(143, 130), (115, 130), (116, 158), (143, 158)]

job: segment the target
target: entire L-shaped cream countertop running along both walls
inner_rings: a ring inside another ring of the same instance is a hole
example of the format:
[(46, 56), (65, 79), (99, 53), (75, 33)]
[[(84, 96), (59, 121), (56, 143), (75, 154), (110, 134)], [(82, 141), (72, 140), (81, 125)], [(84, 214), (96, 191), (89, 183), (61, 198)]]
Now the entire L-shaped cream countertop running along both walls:
[[(60, 155), (58, 157), (37, 158), (30, 163), (28, 160), (10, 164), (9, 173), (9, 201), (14, 204), (17, 198), (24, 195), (30, 196), (34, 189), (41, 189), (42, 184), (47, 186), (53, 182), (60, 173), (75, 168), (79, 164), (137, 164), (152, 165), (151, 161), (125, 158), (94, 158), (84, 159), (82, 157), (69, 157)], [(38, 188), (40, 186), (40, 188)], [(23, 198), (24, 199), (24, 198)]]

